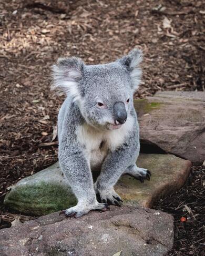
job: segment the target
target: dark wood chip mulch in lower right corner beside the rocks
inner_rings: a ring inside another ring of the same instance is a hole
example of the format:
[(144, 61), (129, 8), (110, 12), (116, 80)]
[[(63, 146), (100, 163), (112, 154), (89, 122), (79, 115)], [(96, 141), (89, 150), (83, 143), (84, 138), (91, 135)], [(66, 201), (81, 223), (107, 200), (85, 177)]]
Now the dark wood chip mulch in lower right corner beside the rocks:
[(167, 256), (205, 255), (205, 166), (192, 167), (186, 185), (153, 208), (175, 220), (175, 241)]

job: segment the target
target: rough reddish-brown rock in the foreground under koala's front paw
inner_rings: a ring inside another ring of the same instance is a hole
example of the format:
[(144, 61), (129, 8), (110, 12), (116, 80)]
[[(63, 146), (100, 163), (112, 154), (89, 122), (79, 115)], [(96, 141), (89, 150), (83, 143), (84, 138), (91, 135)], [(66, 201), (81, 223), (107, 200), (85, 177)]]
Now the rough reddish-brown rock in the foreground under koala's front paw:
[(0, 231), (0, 255), (165, 255), (173, 244), (173, 218), (140, 207), (111, 207), (80, 219), (52, 213)]

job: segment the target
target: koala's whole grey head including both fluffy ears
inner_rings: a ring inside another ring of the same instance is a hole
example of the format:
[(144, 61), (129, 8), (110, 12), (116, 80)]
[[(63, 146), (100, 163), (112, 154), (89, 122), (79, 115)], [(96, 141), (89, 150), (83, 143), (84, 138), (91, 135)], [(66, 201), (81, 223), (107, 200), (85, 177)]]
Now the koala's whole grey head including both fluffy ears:
[(142, 53), (137, 49), (102, 65), (85, 65), (77, 57), (59, 58), (53, 66), (52, 88), (64, 91), (75, 101), (89, 125), (119, 129), (133, 106), (141, 60)]

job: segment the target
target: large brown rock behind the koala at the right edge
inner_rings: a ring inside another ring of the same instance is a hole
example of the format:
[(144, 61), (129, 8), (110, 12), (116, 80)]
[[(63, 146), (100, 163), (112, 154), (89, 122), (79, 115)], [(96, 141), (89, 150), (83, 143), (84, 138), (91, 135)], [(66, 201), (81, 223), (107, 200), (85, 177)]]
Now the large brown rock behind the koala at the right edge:
[(135, 101), (142, 144), (201, 165), (205, 159), (205, 92), (163, 91)]

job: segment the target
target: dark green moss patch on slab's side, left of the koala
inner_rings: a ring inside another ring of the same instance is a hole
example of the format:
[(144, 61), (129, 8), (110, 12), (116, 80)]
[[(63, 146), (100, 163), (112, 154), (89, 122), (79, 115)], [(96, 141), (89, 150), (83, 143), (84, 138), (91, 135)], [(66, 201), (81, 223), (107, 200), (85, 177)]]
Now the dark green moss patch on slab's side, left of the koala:
[(41, 216), (67, 209), (76, 204), (77, 200), (71, 189), (57, 183), (27, 184), (17, 186), (9, 192), (4, 204), (22, 213)]

